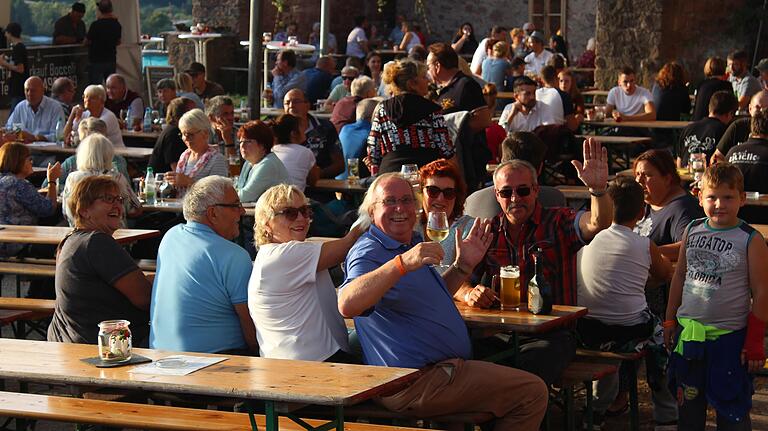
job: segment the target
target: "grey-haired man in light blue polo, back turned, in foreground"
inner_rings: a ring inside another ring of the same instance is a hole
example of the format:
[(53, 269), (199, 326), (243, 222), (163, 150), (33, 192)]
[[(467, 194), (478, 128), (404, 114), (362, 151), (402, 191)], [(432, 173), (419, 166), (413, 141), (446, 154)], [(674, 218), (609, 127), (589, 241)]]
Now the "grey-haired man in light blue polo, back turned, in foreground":
[(233, 243), (245, 213), (232, 181), (210, 176), (184, 197), (187, 224), (163, 237), (150, 306), (149, 346), (258, 354), (248, 313), (248, 253)]

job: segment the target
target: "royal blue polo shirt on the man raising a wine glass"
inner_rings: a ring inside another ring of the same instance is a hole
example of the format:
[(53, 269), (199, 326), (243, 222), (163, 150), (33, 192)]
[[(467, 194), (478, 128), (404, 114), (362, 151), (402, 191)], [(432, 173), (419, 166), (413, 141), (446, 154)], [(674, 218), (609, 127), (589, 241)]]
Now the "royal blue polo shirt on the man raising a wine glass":
[[(421, 241), (414, 233), (410, 244), (401, 244), (371, 226), (347, 254), (341, 289)], [(422, 368), (472, 354), (467, 327), (443, 278), (431, 266), (401, 277), (373, 307), (355, 317), (355, 328), (368, 365)]]

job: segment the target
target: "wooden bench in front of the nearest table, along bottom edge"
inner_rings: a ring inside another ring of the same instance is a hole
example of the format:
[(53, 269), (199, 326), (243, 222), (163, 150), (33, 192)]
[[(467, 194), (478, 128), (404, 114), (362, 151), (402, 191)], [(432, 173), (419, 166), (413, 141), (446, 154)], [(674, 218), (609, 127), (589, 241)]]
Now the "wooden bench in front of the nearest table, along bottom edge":
[[(246, 413), (13, 392), (0, 392), (0, 416), (151, 430), (247, 431), (253, 429)], [(266, 418), (263, 415), (254, 415), (254, 418), (255, 425), (259, 429), (266, 429)], [(288, 418), (281, 417), (279, 422), (281, 430), (304, 431), (301, 425)], [(313, 427), (319, 427), (325, 423), (311, 419), (305, 422)], [(344, 429), (348, 431), (414, 430), (358, 423), (345, 423)]]

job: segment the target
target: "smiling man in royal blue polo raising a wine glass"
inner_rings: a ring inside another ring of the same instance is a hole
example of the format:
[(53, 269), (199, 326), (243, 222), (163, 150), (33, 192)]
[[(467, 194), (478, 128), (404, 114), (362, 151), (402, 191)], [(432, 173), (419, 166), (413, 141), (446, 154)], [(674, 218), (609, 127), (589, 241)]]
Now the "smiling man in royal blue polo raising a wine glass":
[(475, 221), (441, 276), (430, 265), (442, 260), (443, 249), (413, 231), (416, 208), (407, 181), (380, 175), (360, 206), (372, 225), (345, 262), (339, 311), (354, 317), (365, 363), (423, 371), (407, 388), (376, 400), (414, 417), (489, 412), (495, 430), (538, 430), (547, 409), (544, 382), (470, 360), (467, 328), (453, 303), (453, 293), (490, 245), (488, 222)]

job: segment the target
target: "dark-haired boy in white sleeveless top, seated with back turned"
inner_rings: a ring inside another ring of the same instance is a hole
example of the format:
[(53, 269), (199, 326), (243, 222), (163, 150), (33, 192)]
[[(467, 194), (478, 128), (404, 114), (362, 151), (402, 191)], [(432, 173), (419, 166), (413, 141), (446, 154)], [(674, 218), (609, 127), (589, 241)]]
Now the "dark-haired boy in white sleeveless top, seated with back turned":
[[(642, 186), (633, 178), (618, 177), (608, 187), (608, 194), (613, 200), (613, 224), (595, 235), (576, 257), (578, 304), (589, 309), (589, 315), (577, 322), (579, 342), (588, 349), (614, 352), (633, 352), (650, 343), (663, 354), (661, 319), (648, 309), (645, 288), (649, 276), (669, 282), (672, 267), (651, 240), (632, 231), (645, 212)], [(662, 362), (665, 360), (666, 355)], [(659, 380), (657, 375), (653, 377)], [(594, 386), (594, 420), (600, 425), (604, 415), (615, 415), (626, 405), (627, 392), (619, 392), (619, 373)], [(671, 400), (664, 385), (655, 386), (655, 406), (659, 396)], [(609, 408), (614, 400), (618, 409)], [(674, 403), (667, 404), (671, 412), (654, 410), (654, 419), (659, 423), (676, 419)]]

